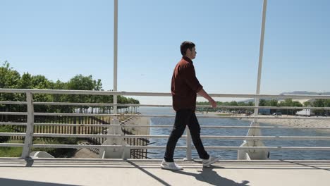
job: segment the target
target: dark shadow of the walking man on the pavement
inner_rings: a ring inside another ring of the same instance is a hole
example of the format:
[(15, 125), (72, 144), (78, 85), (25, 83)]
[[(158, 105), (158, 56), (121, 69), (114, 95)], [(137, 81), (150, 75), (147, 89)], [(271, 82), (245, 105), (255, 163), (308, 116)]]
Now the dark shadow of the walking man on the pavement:
[(201, 182), (207, 182), (210, 185), (224, 185), (224, 186), (248, 186), (247, 183), (249, 181), (243, 180), (241, 183), (235, 182), (233, 180), (229, 180), (227, 178), (221, 177), (216, 173), (216, 171), (213, 171), (214, 168), (219, 168), (216, 166), (210, 166), (207, 168), (203, 168), (202, 171), (199, 171), (200, 174), (196, 173), (187, 173), (184, 171), (173, 171), (174, 173), (179, 173), (183, 175), (191, 175), (196, 178), (196, 180), (199, 180)]

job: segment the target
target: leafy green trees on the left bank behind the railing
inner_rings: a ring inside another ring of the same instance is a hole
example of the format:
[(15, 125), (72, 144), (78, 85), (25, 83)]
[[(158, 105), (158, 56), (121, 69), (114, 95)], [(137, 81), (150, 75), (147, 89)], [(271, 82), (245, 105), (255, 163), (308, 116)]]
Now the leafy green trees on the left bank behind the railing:
[[(95, 90), (104, 91), (102, 89), (101, 80), (93, 80), (92, 75), (75, 75), (68, 82), (57, 80), (53, 82), (48, 80), (44, 75), (31, 75), (23, 73), (20, 75), (17, 70), (11, 68), (10, 64), (5, 61), (0, 67), (0, 88), (8, 89), (76, 89), (76, 90)], [(33, 94), (33, 100), (37, 102), (79, 102), (79, 103), (113, 103), (113, 96), (99, 95), (69, 95), (69, 94)], [(0, 101), (26, 101), (25, 94), (0, 94)], [(118, 96), (118, 104), (140, 104), (136, 99)], [(35, 105), (36, 112), (59, 112), (73, 113), (77, 110), (88, 109), (89, 106), (51, 106), (51, 105)], [(107, 107), (99, 107), (99, 109), (111, 109)], [(25, 105), (7, 105), (0, 104), (2, 111), (25, 111)], [(93, 109), (91, 109), (93, 111)]]

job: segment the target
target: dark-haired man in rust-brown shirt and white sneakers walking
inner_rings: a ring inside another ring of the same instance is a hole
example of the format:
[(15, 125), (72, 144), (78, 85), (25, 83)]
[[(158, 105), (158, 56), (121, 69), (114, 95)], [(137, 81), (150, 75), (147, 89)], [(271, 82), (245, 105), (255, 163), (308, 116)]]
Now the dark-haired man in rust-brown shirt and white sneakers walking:
[(203, 166), (209, 166), (220, 159), (219, 157), (209, 156), (200, 139), (200, 124), (195, 115), (197, 94), (207, 99), (213, 108), (216, 108), (216, 101), (204, 91), (195, 75), (192, 61), (197, 54), (195, 44), (193, 42), (183, 42), (181, 44), (181, 54), (183, 57), (174, 68), (171, 82), (173, 109), (176, 111), (176, 118), (166, 145), (164, 159), (161, 162), (161, 168), (169, 170), (183, 169), (174, 163), (173, 154), (176, 143), (183, 135), (186, 125), (188, 125), (193, 144), (200, 159), (202, 159)]

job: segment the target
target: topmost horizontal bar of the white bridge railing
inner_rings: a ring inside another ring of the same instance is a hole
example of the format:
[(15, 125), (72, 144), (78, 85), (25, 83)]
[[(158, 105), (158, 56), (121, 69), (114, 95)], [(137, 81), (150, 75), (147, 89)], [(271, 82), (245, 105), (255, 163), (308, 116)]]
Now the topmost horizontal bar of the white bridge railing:
[[(152, 96), (171, 97), (171, 93), (161, 92), (115, 92), (93, 90), (64, 90), (64, 89), (0, 89), (0, 93), (26, 93), (32, 94), (90, 94), (90, 95), (123, 95), (123, 96)], [(200, 96), (200, 95), (198, 95)], [(330, 95), (295, 95), (295, 94), (209, 94), (211, 97), (237, 97), (237, 98), (291, 98), (291, 99), (330, 99)]]

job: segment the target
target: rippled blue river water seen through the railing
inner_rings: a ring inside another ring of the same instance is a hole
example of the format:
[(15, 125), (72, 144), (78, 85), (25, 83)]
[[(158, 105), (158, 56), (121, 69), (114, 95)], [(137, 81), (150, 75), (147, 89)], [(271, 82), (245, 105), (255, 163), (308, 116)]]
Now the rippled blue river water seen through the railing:
[[(155, 115), (175, 115), (171, 108), (140, 108), (142, 114)], [(198, 117), (198, 114), (197, 114)], [(227, 118), (199, 118), (199, 123), (203, 125), (227, 125), (227, 126), (249, 126), (250, 121), (227, 119)], [(150, 118), (150, 125), (173, 125), (174, 118)], [(261, 126), (275, 126), (269, 123), (260, 123)], [(171, 128), (150, 128), (150, 135), (169, 135)], [(244, 136), (247, 129), (209, 129), (202, 128), (201, 135), (231, 135)], [(185, 135), (185, 133), (184, 133)], [(330, 131), (319, 131), (311, 129), (263, 129), (264, 136), (330, 136)], [(202, 140), (205, 147), (207, 146), (231, 146), (238, 147), (243, 143), (243, 140)], [(165, 146), (167, 139), (150, 139), (155, 146)], [(264, 140), (267, 147), (330, 147), (329, 140)], [(177, 146), (185, 146), (185, 138), (178, 141)], [(231, 150), (216, 150), (208, 151), (210, 155), (221, 156), (222, 159), (237, 159), (237, 151)], [(148, 157), (152, 159), (162, 159), (164, 156), (163, 149), (148, 150)], [(193, 159), (198, 159), (197, 152), (193, 149)], [(174, 159), (183, 159), (185, 157), (185, 150), (176, 149)], [(270, 151), (269, 159), (330, 159), (330, 151)]]

